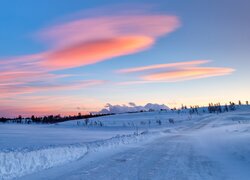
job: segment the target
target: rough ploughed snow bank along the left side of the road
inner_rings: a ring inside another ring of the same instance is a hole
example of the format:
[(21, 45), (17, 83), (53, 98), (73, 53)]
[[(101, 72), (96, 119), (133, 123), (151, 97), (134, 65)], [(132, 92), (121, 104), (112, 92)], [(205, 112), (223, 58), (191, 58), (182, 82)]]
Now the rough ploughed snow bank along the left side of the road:
[(0, 179), (11, 179), (62, 165), (84, 157), (87, 153), (142, 141), (148, 133), (116, 136), (111, 139), (39, 150), (0, 152)]

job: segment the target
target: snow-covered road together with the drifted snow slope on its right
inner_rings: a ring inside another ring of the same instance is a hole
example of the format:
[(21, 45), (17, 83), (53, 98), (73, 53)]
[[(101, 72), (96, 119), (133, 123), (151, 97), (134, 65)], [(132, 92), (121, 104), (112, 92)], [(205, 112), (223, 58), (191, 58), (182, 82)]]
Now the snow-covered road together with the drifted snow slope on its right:
[(22, 179), (249, 179), (250, 135), (238, 132), (250, 126), (223, 125), (221, 117), (204, 116), (149, 142), (91, 153)]

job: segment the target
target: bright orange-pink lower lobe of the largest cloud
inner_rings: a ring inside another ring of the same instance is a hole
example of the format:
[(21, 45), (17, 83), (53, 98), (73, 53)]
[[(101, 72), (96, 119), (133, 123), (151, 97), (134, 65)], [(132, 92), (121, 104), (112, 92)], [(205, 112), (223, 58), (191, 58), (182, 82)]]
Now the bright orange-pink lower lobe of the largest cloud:
[(64, 69), (94, 64), (141, 51), (153, 43), (154, 39), (147, 36), (124, 36), (81, 43), (48, 53), (41, 62), (41, 66), (49, 69)]

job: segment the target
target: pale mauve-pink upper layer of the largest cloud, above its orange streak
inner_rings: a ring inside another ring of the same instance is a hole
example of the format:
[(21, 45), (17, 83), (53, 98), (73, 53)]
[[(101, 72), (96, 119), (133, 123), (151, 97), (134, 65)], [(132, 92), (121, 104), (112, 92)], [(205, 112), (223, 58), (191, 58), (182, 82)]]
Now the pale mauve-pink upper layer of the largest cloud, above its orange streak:
[(157, 38), (175, 31), (179, 26), (176, 16), (116, 14), (58, 24), (43, 30), (38, 36), (52, 46), (61, 47), (123, 36)]

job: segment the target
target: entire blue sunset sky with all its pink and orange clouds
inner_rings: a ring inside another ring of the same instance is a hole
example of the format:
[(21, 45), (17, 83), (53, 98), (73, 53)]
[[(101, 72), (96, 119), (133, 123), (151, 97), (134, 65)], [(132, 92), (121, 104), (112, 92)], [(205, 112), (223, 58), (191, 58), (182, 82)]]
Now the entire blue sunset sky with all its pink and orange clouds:
[(250, 100), (247, 0), (0, 6), (0, 116)]

